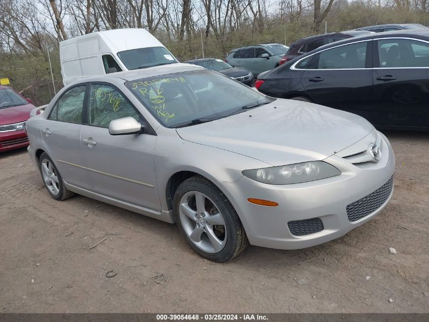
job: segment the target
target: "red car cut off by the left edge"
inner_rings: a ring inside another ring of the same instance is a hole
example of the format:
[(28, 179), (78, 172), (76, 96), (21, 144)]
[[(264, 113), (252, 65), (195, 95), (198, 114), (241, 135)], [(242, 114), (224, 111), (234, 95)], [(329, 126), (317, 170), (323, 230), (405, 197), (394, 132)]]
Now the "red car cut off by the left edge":
[(0, 85), (0, 152), (28, 145), (24, 128), (33, 108), (22, 95)]

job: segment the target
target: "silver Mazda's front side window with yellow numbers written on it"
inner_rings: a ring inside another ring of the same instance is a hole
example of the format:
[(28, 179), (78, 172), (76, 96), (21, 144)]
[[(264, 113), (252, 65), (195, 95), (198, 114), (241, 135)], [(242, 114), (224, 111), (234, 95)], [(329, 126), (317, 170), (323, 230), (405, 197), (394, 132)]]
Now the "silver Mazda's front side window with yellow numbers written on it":
[(139, 114), (121, 93), (105, 84), (92, 84), (89, 92), (88, 121), (90, 125), (108, 128), (110, 121), (132, 116), (139, 121)]

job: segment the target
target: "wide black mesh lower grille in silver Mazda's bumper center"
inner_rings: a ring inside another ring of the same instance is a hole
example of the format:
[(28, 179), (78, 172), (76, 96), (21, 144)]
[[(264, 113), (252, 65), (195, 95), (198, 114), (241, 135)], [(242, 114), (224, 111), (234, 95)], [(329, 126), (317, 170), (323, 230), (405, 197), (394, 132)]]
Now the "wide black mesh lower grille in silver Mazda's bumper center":
[(357, 221), (376, 211), (386, 202), (393, 188), (393, 176), (380, 188), (368, 196), (350, 203), (347, 210), (349, 221)]

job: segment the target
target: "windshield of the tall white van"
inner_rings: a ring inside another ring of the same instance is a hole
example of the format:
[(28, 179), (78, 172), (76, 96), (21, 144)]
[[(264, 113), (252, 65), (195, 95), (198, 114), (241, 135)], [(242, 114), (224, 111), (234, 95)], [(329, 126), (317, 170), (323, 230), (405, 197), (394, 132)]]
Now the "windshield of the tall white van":
[(164, 47), (130, 49), (118, 52), (118, 56), (128, 70), (177, 63)]

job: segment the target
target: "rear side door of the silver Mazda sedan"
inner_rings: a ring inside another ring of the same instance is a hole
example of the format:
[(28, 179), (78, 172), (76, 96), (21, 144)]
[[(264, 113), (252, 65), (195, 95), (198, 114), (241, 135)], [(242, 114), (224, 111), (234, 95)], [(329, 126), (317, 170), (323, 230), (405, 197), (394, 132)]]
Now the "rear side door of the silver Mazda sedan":
[(89, 188), (80, 140), (85, 89), (86, 85), (75, 86), (62, 94), (46, 120), (42, 136), (62, 179)]

